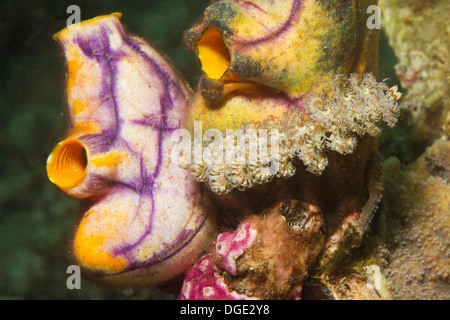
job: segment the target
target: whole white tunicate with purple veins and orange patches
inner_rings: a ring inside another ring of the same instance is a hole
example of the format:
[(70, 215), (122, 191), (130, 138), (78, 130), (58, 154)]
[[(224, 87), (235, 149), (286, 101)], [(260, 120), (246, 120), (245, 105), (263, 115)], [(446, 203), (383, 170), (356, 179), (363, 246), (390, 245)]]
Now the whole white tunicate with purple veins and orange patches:
[(75, 232), (77, 263), (97, 280), (141, 286), (193, 264), (216, 235), (202, 186), (174, 164), (192, 92), (166, 59), (114, 13), (54, 38), (67, 66), (70, 128), (47, 160), (49, 179), (93, 204)]

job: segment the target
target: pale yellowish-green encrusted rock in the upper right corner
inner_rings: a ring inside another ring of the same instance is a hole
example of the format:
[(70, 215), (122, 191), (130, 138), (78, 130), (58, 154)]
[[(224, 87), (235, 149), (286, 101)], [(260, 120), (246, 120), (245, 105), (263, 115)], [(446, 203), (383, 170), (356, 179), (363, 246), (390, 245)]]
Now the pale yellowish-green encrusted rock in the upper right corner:
[(383, 30), (396, 57), (395, 71), (406, 90), (401, 108), (408, 143), (419, 156), (443, 132), (449, 136), (450, 3), (381, 0)]

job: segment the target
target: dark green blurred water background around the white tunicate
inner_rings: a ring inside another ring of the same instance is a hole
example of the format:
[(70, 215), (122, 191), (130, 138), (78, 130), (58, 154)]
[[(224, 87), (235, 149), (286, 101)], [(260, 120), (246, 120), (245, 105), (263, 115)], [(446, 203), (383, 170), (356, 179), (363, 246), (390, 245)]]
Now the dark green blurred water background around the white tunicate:
[[(173, 299), (156, 287), (114, 289), (85, 278), (81, 290), (66, 286), (70, 240), (85, 204), (53, 185), (45, 164), (67, 129), (64, 60), (52, 35), (66, 26), (73, 4), (82, 20), (122, 12), (128, 31), (165, 52), (192, 87), (200, 75), (182, 37), (209, 0), (0, 1), (0, 299)], [(379, 78), (391, 85), (399, 83), (394, 65), (382, 36)], [(402, 139), (385, 129), (381, 152), (404, 158)]]

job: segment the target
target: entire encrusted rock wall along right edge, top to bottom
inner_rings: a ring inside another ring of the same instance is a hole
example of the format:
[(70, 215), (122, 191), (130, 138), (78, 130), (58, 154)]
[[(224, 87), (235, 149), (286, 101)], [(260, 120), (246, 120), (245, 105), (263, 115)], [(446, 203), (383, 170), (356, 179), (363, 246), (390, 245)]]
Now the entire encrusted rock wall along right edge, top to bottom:
[(380, 6), (407, 90), (399, 132), (407, 134), (409, 154), (384, 162), (376, 255), (394, 299), (449, 299), (450, 28), (442, 23), (450, 3), (382, 0)]

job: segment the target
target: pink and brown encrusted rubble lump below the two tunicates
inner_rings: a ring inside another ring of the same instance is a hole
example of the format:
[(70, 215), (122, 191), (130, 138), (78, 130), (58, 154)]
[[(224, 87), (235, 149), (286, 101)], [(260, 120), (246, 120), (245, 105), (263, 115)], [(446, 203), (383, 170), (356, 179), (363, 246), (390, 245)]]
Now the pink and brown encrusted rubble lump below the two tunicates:
[(214, 252), (186, 273), (179, 298), (299, 299), (322, 241), (317, 207), (279, 203), (221, 233)]

